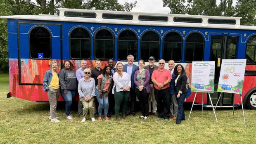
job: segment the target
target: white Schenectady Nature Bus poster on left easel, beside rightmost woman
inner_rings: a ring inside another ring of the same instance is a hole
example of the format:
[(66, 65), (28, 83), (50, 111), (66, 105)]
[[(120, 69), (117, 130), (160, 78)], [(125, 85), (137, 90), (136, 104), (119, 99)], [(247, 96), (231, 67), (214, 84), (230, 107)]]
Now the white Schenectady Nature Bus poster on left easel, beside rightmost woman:
[(214, 61), (192, 62), (192, 92), (214, 92)]

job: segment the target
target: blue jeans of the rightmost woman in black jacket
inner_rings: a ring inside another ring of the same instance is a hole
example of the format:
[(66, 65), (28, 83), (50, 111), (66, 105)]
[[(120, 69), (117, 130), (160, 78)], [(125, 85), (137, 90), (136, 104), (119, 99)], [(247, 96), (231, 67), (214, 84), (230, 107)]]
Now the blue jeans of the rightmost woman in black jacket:
[(178, 113), (177, 113), (176, 123), (181, 123), (181, 120), (185, 120), (185, 112), (184, 112), (184, 108), (183, 108), (183, 103), (186, 98), (186, 95), (187, 95), (187, 92), (180, 94), (180, 97), (177, 99)]

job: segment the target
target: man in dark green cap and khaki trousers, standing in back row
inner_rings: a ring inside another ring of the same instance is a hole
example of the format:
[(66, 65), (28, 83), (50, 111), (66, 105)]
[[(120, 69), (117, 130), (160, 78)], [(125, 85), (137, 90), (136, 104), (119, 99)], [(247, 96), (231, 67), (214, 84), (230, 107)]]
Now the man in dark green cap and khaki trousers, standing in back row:
[(152, 99), (152, 112), (154, 116), (158, 116), (156, 113), (156, 99), (154, 95), (154, 84), (151, 81), (151, 76), (154, 70), (158, 69), (158, 66), (154, 65), (155, 58), (154, 57), (149, 57), (149, 65), (145, 66), (145, 69), (147, 69), (150, 73), (150, 79), (149, 79), (149, 84), (150, 84), (150, 93), (149, 93), (149, 113), (151, 113), (151, 99)]

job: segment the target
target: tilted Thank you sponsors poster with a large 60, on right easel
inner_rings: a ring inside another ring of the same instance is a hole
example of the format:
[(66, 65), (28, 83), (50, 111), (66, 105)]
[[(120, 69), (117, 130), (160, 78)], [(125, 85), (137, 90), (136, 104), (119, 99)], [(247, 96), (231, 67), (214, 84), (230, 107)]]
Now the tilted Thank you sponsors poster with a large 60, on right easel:
[(242, 94), (246, 59), (223, 59), (218, 92)]

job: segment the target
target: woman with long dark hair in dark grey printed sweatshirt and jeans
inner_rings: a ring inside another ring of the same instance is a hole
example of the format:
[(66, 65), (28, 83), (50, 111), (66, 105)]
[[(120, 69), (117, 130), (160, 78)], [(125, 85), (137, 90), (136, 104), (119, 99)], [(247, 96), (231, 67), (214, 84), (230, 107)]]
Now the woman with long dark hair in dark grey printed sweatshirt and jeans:
[(70, 115), (72, 99), (76, 95), (77, 80), (76, 71), (73, 70), (73, 64), (69, 60), (65, 60), (64, 67), (59, 72), (59, 84), (61, 88), (61, 94), (65, 100), (66, 118), (73, 120), (73, 116)]

